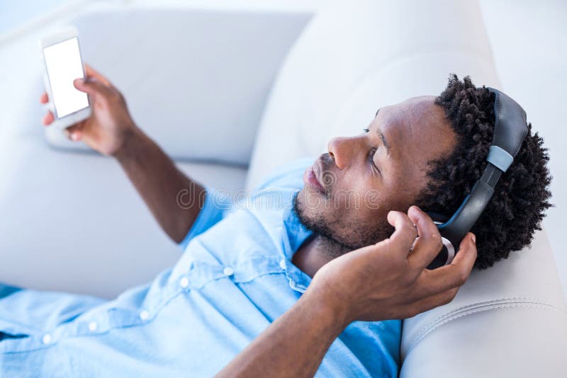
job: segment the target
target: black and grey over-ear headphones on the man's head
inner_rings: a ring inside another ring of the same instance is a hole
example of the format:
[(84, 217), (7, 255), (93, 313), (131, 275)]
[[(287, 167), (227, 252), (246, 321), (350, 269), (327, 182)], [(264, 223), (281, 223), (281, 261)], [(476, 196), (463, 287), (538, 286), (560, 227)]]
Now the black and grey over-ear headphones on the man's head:
[(443, 248), (427, 269), (450, 264), (458, 252), (459, 244), (481, 217), (494, 194), (502, 173), (507, 171), (520, 150), (527, 134), (526, 112), (518, 103), (495, 88), (487, 89), (496, 96), (494, 101), (494, 133), (488, 150), (488, 165), (452, 217), (428, 212), (442, 236)]

